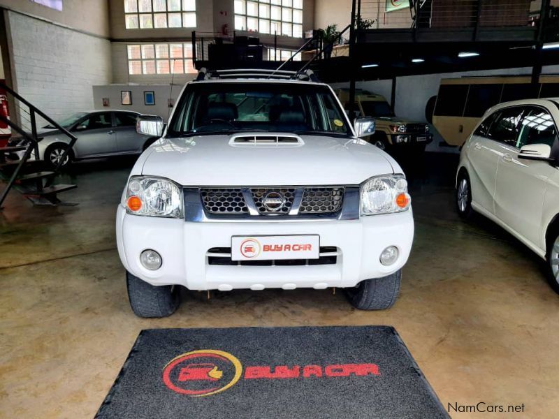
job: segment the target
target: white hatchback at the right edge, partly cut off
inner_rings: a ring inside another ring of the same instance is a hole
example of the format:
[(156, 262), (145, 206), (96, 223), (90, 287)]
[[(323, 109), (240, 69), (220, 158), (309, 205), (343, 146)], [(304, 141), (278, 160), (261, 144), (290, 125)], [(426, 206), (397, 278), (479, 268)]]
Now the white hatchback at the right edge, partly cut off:
[(500, 224), (547, 261), (559, 292), (559, 99), (501, 103), (467, 138), (456, 177), (458, 214)]

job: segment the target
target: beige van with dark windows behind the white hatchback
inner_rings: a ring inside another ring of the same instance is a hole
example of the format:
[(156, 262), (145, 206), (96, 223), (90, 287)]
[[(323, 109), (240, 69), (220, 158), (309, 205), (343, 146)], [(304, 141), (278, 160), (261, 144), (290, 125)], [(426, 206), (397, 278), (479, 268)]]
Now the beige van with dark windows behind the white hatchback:
[(551, 97), (559, 97), (559, 75), (542, 75), (538, 84), (532, 84), (529, 75), (443, 79), (433, 125), (447, 144), (460, 146), (491, 106)]

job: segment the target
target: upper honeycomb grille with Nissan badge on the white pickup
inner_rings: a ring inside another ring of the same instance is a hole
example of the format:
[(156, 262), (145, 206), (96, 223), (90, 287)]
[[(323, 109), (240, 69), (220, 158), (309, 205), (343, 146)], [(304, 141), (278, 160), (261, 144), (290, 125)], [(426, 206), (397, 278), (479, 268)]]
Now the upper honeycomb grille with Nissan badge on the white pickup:
[(343, 186), (201, 188), (200, 196), (208, 214), (286, 216), (340, 212), (344, 192)]

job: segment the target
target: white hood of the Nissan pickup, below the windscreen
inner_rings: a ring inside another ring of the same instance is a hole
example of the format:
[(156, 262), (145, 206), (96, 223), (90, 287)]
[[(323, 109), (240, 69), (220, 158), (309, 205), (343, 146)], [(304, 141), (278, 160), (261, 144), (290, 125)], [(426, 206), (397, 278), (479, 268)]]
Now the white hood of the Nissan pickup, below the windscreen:
[(184, 186), (298, 186), (360, 184), (393, 173), (392, 159), (363, 140), (300, 138), (302, 144), (249, 146), (231, 144), (231, 135), (164, 138), (142, 159), (141, 174)]

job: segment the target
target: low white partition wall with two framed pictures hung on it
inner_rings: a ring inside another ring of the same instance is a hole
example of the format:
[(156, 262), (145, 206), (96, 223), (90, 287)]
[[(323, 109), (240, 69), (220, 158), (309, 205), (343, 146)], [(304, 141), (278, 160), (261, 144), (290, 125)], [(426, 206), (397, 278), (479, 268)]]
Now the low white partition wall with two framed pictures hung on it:
[[(143, 85), (129, 85), (129, 84), (110, 84), (106, 86), (93, 87), (93, 100), (95, 109), (119, 109), (119, 110), (133, 110), (140, 112), (143, 115), (159, 115), (165, 121), (170, 114), (168, 108), (168, 98), (173, 98), (176, 103), (177, 98), (182, 91), (184, 84), (173, 84), (171, 90), (170, 84), (143, 84)], [(132, 92), (132, 105), (121, 105), (120, 92), (122, 90), (129, 90)], [(155, 95), (155, 105), (145, 105), (144, 91), (153, 91)], [(103, 108), (103, 98), (109, 99), (108, 108)]]

